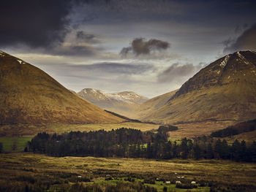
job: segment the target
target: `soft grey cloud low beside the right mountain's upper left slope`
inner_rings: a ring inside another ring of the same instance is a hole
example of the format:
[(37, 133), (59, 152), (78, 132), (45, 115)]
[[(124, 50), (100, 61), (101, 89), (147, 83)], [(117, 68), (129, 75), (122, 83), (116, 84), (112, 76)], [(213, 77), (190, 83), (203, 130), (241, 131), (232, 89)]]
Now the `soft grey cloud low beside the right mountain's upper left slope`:
[(191, 77), (196, 72), (198, 72), (205, 64), (200, 63), (196, 66), (193, 64), (172, 64), (165, 71), (157, 75), (158, 82), (181, 82), (183, 79), (187, 80), (189, 76)]

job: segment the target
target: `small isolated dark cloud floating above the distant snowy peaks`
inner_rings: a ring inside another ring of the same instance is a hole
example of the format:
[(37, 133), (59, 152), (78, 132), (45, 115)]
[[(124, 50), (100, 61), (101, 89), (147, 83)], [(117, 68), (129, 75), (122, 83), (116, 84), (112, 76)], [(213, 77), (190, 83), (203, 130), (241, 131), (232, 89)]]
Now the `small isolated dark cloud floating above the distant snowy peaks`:
[(146, 41), (144, 38), (135, 38), (130, 47), (124, 47), (120, 54), (127, 55), (129, 52), (134, 53), (135, 55), (148, 55), (152, 51), (161, 51), (166, 50), (170, 47), (169, 42), (164, 42), (159, 39), (149, 39)]

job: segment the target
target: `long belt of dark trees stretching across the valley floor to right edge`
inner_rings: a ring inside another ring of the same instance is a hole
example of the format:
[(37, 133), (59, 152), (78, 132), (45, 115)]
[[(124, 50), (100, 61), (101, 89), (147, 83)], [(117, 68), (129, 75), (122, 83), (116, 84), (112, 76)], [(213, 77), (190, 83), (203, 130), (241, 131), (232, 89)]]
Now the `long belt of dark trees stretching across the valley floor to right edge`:
[(72, 131), (69, 134), (40, 133), (26, 150), (53, 156), (94, 156), (124, 158), (222, 158), (233, 161), (256, 161), (256, 142), (228, 145), (225, 139), (211, 137), (181, 139), (180, 143), (167, 140), (166, 132), (142, 132), (132, 128), (112, 131)]

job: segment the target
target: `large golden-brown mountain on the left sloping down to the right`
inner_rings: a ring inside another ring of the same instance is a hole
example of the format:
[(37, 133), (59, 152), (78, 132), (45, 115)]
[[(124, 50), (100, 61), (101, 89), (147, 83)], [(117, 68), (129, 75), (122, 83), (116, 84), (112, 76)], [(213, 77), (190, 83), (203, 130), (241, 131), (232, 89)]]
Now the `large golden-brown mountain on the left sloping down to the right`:
[(112, 123), (111, 115), (20, 58), (0, 52), (0, 124)]

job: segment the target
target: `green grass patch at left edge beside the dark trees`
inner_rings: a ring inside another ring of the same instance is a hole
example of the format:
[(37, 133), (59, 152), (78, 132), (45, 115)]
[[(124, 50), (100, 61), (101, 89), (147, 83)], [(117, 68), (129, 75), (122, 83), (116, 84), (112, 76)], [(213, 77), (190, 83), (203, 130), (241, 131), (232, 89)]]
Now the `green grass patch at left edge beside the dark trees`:
[(32, 137), (0, 137), (3, 152), (21, 152)]

